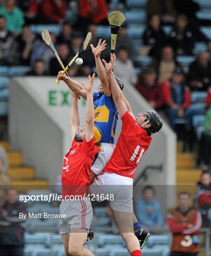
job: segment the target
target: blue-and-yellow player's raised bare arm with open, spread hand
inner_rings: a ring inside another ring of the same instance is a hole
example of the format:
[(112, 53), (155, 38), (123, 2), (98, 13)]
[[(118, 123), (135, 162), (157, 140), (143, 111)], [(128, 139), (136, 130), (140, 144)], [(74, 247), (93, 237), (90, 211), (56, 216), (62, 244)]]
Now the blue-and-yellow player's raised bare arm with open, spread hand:
[(97, 74), (101, 81), (102, 89), (103, 89), (104, 93), (106, 94), (106, 96), (110, 96), (111, 92), (110, 92), (110, 82), (108, 79), (108, 74), (107, 74), (107, 72), (101, 62), (101, 58), (100, 58), (101, 52), (103, 52), (106, 48), (106, 41), (104, 40), (102, 43), (101, 43), (101, 41), (102, 40), (100, 39), (98, 42), (98, 45), (96, 47), (94, 47), (93, 44), (91, 44), (90, 46), (92, 48), (93, 55), (95, 58)]

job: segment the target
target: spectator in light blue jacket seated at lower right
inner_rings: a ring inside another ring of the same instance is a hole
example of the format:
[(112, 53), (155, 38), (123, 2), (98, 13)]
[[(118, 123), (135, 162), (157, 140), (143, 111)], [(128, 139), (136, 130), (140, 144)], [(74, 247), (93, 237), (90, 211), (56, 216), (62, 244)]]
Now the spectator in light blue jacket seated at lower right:
[(158, 233), (164, 224), (160, 202), (154, 199), (155, 190), (152, 186), (144, 187), (143, 198), (136, 202), (137, 219), (143, 229)]

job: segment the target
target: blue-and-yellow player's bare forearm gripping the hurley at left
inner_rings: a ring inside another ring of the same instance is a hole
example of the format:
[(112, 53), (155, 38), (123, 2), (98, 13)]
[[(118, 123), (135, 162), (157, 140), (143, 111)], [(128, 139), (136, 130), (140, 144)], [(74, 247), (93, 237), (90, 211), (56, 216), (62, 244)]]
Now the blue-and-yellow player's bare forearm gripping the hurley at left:
[(61, 73), (62, 71), (59, 71), (57, 79), (63, 80), (71, 91), (74, 91), (76, 94), (80, 95), (86, 100), (86, 90), (84, 87), (79, 82), (76, 82), (72, 78), (68, 77), (66, 74), (62, 75)]

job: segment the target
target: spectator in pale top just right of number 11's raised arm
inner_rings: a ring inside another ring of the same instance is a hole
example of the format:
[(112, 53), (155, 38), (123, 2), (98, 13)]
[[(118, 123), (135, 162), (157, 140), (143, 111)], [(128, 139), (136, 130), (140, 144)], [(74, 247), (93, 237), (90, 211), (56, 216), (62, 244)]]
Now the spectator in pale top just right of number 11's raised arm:
[(135, 85), (137, 81), (133, 62), (128, 59), (128, 52), (124, 47), (118, 49), (118, 56), (114, 66), (114, 74), (123, 82), (129, 82)]

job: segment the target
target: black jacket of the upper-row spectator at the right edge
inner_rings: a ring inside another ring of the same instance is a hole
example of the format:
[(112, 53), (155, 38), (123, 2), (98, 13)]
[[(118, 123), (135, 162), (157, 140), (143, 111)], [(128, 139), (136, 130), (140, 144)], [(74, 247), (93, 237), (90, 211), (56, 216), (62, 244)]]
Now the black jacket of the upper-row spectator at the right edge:
[[(204, 78), (208, 78), (209, 82), (204, 82)], [(190, 85), (190, 82), (192, 81), (202, 82), (203, 86), (200, 88), (192, 87)], [(187, 82), (193, 91), (207, 91), (208, 87), (211, 85), (211, 63), (208, 62), (206, 67), (201, 67), (198, 63), (198, 60), (192, 62), (189, 67)]]

